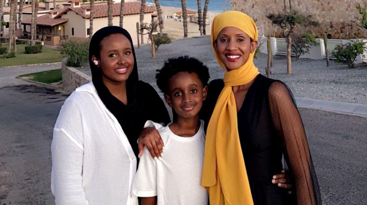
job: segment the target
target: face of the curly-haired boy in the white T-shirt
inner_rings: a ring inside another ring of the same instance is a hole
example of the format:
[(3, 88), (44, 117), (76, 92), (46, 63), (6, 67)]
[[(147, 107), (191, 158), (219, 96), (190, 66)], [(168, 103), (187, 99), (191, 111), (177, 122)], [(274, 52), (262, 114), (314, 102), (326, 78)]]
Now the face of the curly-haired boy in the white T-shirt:
[(168, 95), (164, 95), (168, 106), (173, 107), (178, 117), (192, 118), (199, 114), (207, 87), (196, 73), (179, 72), (168, 80)]

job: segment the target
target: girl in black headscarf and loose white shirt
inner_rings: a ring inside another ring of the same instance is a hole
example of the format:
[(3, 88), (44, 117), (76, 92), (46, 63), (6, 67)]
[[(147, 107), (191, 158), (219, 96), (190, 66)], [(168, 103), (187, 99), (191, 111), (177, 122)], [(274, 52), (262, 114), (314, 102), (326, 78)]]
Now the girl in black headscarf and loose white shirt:
[(61, 108), (52, 139), (51, 190), (56, 204), (137, 204), (131, 184), (137, 139), (147, 120), (170, 122), (163, 101), (138, 80), (130, 34), (109, 26), (90, 42), (92, 82)]

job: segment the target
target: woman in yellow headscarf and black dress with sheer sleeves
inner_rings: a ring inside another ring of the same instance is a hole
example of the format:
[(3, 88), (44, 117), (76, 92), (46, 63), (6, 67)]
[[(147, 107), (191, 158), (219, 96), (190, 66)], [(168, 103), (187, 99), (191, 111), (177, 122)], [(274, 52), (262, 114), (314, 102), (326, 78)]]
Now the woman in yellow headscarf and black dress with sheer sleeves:
[[(210, 83), (202, 116), (207, 135), (201, 185), (211, 205), (321, 204), (305, 129), (290, 90), (259, 74), (254, 21), (238, 11), (217, 15), (211, 41), (224, 80)], [(208, 122), (208, 123), (207, 123)], [(290, 168), (292, 194), (271, 183)]]

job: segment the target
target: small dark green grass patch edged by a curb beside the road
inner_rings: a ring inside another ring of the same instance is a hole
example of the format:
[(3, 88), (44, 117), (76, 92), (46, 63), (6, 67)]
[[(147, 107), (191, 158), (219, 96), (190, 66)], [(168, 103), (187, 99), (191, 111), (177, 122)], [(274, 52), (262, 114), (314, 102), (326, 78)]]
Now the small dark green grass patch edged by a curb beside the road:
[(62, 80), (61, 69), (48, 70), (38, 73), (29, 73), (21, 75), (19, 77), (46, 84), (57, 83)]

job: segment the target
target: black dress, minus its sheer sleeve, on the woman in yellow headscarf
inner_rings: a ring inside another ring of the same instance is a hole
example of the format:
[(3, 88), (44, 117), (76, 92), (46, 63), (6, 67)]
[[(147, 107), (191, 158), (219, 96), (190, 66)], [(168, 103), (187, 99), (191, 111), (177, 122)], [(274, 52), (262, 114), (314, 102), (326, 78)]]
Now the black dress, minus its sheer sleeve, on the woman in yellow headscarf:
[[(240, 144), (254, 204), (295, 205), (297, 204), (295, 188), (292, 189), (293, 194), (288, 194), (289, 189), (281, 188), (272, 183), (272, 176), (280, 174), (283, 169), (283, 154), (287, 164), (290, 164), (284, 143), (286, 140), (282, 136), (284, 132), (276, 128), (275, 124), (279, 124), (277, 122), (279, 119), (275, 119), (274, 114), (272, 114), (272, 111), (277, 110), (272, 107), (271, 98), (269, 98), (269, 88), (274, 82), (279, 81), (259, 74), (248, 89), (243, 105), (237, 113)], [(281, 85), (284, 84), (281, 83)], [(223, 87), (224, 82), (221, 79), (213, 80), (208, 85), (208, 96), (200, 113), (206, 126)], [(277, 88), (275, 87), (275, 89)], [(287, 95), (292, 98), (288, 88), (286, 91)], [(294, 101), (292, 104), (295, 106)], [(279, 112), (279, 110), (277, 111)], [(290, 113), (287, 115), (287, 117), (292, 117)], [(302, 122), (301, 125), (303, 128)], [(207, 127), (205, 127), (206, 129)], [(313, 166), (310, 171), (313, 172), (313, 174), (311, 173), (312, 178), (314, 177), (312, 186), (316, 183), (313, 189), (317, 201), (319, 200), (319, 189)], [(294, 179), (292, 173), (287, 175)], [(292, 181), (294, 182), (294, 180)], [(319, 201), (321, 203), (321, 200)]]

